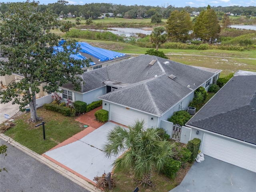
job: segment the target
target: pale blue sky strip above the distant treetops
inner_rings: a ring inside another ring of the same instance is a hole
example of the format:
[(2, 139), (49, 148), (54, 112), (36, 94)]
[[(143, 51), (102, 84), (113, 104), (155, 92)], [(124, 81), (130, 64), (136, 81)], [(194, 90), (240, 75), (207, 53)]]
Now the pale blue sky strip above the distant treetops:
[[(23, 2), (25, 0), (1, 0), (1, 2)], [(36, 0), (40, 4), (55, 3), (57, 0)], [(112, 3), (122, 5), (144, 5), (144, 6), (175, 6), (175, 7), (204, 7), (212, 6), (256, 6), (256, 0), (66, 0), (69, 4), (90, 4), (90, 3)]]

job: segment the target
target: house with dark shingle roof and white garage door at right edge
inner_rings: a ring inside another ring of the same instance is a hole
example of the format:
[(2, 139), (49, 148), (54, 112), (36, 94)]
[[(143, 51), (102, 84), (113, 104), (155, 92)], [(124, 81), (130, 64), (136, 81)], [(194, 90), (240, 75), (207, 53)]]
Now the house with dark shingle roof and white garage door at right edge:
[(204, 154), (256, 172), (256, 72), (236, 72), (182, 126), (180, 142), (193, 138)]

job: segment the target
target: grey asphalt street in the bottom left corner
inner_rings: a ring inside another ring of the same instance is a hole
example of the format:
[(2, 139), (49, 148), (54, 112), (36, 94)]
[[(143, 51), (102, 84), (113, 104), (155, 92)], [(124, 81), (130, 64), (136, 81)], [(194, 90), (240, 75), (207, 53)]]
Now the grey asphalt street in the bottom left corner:
[(89, 192), (4, 140), (0, 144), (8, 146), (7, 156), (0, 155), (0, 168), (8, 170), (0, 172), (1, 192)]

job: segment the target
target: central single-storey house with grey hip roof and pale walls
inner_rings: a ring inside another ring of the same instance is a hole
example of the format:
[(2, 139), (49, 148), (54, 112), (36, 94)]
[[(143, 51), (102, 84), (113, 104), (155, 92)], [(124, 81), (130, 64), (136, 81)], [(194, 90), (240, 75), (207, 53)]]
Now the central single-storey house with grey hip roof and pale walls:
[(221, 72), (215, 71), (141, 55), (85, 72), (80, 91), (75, 91), (72, 84), (61, 89), (74, 101), (102, 100), (109, 120), (128, 126), (143, 119), (146, 128), (156, 128), (162, 127), (175, 111), (186, 110), (198, 87), (208, 89)]

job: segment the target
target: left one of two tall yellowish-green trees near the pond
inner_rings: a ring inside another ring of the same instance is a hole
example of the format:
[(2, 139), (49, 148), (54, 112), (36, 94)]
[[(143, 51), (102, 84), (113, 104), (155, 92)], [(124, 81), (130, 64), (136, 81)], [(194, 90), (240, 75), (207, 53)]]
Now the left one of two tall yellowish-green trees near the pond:
[(166, 22), (166, 32), (174, 42), (186, 42), (190, 38), (192, 27), (190, 14), (186, 10), (173, 11)]

